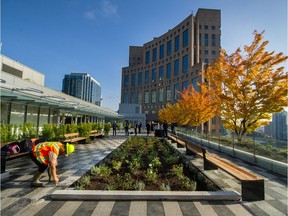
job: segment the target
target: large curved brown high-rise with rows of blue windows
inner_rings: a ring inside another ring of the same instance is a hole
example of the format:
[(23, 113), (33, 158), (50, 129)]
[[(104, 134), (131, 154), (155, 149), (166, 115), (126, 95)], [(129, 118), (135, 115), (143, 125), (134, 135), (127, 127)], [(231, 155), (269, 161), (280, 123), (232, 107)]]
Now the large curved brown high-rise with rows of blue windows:
[[(129, 66), (122, 68), (121, 103), (141, 104), (148, 121), (174, 104), (189, 85), (197, 89), (199, 74), (220, 55), (221, 11), (199, 9), (173, 29), (143, 46), (130, 46)], [(219, 118), (205, 127), (220, 131)]]

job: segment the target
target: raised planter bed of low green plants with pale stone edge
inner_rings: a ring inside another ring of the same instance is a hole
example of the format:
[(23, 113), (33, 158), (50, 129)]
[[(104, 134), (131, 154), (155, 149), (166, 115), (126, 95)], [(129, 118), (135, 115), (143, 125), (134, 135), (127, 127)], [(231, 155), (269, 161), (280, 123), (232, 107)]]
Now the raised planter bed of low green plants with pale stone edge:
[(55, 191), (51, 197), (68, 200), (210, 200), (211, 196), (215, 200), (241, 198), (236, 192), (222, 191), (168, 142), (133, 137), (69, 189)]

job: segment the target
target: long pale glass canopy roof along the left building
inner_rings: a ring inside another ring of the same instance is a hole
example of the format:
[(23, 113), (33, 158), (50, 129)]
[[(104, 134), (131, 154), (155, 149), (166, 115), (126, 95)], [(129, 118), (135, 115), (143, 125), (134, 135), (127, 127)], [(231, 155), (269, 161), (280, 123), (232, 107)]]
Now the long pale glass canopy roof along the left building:
[(53, 108), (65, 114), (92, 115), (112, 119), (122, 117), (111, 109), (37, 85), (3, 71), (0, 76), (0, 96), (2, 102)]

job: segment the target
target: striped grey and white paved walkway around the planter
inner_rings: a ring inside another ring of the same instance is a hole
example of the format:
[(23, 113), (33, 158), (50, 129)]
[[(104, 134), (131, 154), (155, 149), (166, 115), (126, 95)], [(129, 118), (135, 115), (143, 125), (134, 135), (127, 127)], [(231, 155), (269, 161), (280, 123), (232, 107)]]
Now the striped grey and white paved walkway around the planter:
[[(42, 188), (31, 188), (30, 181), (36, 165), (23, 157), (7, 162), (11, 176), (1, 182), (1, 215), (99, 215), (99, 216), (189, 216), (189, 215), (287, 215), (287, 178), (270, 173), (262, 168), (230, 158), (234, 163), (252, 170), (265, 179), (265, 200), (257, 202), (223, 201), (52, 201), (50, 194), (68, 187), (107, 154), (126, 140), (126, 136), (96, 139), (91, 144), (79, 144), (68, 158), (59, 158), (57, 187), (48, 183), (45, 174)], [(183, 152), (184, 149), (178, 149)], [(221, 155), (226, 157), (225, 155)], [(203, 168), (201, 159), (189, 156), (195, 165)], [(229, 157), (227, 157), (229, 159)], [(225, 190), (240, 191), (236, 180), (220, 170), (205, 171)]]

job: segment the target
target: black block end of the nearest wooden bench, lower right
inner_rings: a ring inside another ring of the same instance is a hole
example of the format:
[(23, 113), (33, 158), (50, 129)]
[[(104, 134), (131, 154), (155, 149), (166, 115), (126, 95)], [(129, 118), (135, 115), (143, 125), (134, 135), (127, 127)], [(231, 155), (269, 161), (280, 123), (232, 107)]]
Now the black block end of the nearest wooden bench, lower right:
[(264, 179), (241, 181), (241, 194), (243, 201), (256, 201), (265, 199)]

